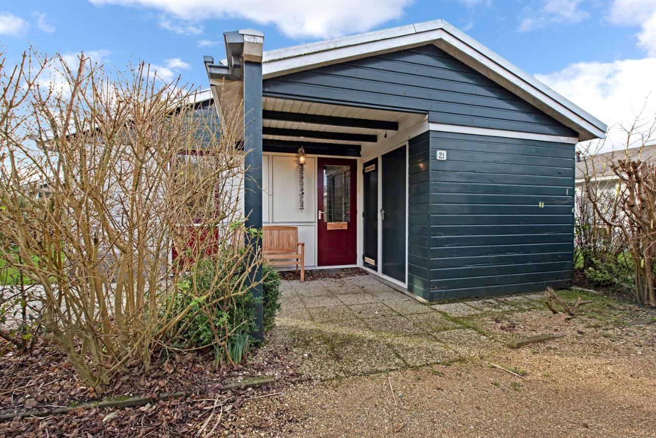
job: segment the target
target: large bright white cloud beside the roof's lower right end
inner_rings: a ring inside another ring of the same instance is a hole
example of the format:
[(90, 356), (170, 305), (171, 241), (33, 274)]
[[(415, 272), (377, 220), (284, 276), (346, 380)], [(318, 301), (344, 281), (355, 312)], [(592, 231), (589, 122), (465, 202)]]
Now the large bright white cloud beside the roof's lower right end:
[(628, 126), (640, 114), (656, 118), (656, 58), (579, 62), (536, 77), (609, 125), (604, 150), (624, 147)]

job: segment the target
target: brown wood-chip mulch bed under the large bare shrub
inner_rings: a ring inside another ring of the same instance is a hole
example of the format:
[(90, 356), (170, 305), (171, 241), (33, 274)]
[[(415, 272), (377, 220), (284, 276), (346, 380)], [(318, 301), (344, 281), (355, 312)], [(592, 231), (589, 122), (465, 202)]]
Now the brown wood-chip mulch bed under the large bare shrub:
[[(48, 410), (89, 401), (150, 397), (149, 405), (123, 409), (77, 408), (65, 415), (14, 418), (0, 423), (0, 437), (65, 434), (70, 436), (176, 436), (195, 434), (213, 414), (204, 433), (216, 422), (230, 422), (239, 406), (258, 395), (281, 391), (301, 382), (300, 372), (287, 359), (289, 352), (262, 347), (251, 352), (245, 366), (217, 369), (211, 352), (155, 354), (147, 374), (134, 369), (119, 376), (100, 397), (81, 382), (56, 345), (40, 341), (30, 355), (15, 355), (0, 341), (0, 412)], [(218, 387), (237, 378), (275, 374), (276, 383), (218, 393)], [(157, 395), (194, 393), (190, 397), (158, 401)], [(220, 415), (219, 415), (220, 413)], [(220, 432), (222, 426), (215, 429)]]

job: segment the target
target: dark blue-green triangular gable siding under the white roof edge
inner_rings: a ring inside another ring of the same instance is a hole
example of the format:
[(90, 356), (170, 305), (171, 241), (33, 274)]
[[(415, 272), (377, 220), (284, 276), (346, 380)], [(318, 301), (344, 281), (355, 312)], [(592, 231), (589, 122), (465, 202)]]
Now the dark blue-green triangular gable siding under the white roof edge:
[[(263, 94), (428, 113), (435, 123), (577, 136), (434, 45), (266, 79)], [(508, 154), (513, 153), (510, 148)]]

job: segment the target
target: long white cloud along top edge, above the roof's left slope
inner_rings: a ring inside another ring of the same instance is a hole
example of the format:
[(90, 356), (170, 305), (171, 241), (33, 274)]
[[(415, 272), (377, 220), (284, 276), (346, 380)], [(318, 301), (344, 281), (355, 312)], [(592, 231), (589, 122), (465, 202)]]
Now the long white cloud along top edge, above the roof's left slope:
[[(273, 24), (285, 35), (337, 37), (365, 32), (388, 20), (400, 18), (413, 0), (89, 0), (94, 5), (149, 7), (197, 22), (209, 18), (246, 18), (257, 24)], [(174, 31), (175, 32), (175, 31)]]

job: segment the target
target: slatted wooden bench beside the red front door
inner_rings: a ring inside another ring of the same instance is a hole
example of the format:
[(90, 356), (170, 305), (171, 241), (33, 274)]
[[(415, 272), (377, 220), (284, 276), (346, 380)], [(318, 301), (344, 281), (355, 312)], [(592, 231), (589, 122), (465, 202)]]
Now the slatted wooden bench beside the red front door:
[(262, 227), (262, 254), (274, 267), (300, 267), (300, 281), (305, 281), (305, 243), (298, 242), (298, 227), (266, 225)]

